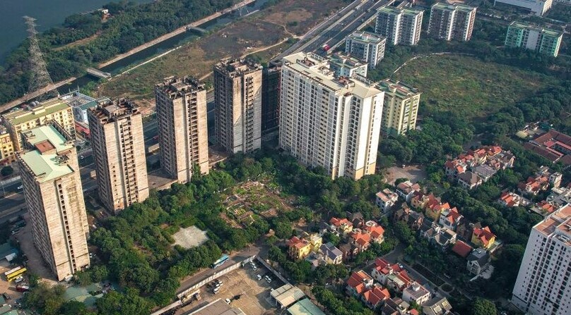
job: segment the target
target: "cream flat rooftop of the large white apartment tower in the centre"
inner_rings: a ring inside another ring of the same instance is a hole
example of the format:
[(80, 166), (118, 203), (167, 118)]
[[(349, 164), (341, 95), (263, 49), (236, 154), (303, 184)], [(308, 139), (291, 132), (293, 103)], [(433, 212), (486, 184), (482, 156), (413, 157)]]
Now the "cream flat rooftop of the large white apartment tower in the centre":
[(337, 95), (355, 94), (360, 98), (373, 97), (381, 91), (372, 87), (366, 78), (355, 75), (351, 78), (334, 76), (329, 68), (329, 59), (312, 53), (299, 52), (283, 58), (283, 66), (288, 66), (300, 75), (310, 78)]

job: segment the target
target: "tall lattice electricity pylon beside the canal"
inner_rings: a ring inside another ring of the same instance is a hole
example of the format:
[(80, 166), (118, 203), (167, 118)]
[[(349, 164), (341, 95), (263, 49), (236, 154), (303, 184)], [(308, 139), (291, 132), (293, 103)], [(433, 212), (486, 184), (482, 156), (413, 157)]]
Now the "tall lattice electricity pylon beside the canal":
[[(49, 77), (44, 56), (42, 55), (42, 51), (40, 51), (40, 45), (37, 43), (37, 30), (35, 29), (36, 19), (31, 18), (30, 16), (24, 16), (24, 20), (26, 25), (28, 25), (28, 39), (30, 39), (30, 71), (32, 73), (32, 77), (30, 78), (28, 93), (31, 93), (38, 89), (43, 89), (49, 85), (53, 85), (54, 82), (52, 81), (52, 78)], [(43, 101), (57, 96), (59, 96), (57, 89), (51, 89), (38, 96), (37, 100)]]

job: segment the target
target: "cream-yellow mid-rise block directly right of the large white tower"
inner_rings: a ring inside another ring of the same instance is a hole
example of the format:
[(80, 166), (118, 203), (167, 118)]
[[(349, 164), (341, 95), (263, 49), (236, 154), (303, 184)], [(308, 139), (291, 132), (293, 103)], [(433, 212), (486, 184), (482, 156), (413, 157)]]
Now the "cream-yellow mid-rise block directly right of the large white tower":
[(404, 135), (416, 128), (420, 103), (418, 89), (404, 82), (382, 80), (377, 89), (384, 92), (381, 130), (383, 135)]

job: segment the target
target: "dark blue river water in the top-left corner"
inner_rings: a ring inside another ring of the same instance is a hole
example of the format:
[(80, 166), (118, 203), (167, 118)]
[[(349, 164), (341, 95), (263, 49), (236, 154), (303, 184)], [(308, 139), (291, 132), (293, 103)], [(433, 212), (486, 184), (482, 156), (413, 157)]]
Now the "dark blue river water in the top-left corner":
[[(153, 0), (131, 0), (142, 4)], [(43, 32), (61, 25), (67, 16), (93, 11), (111, 0), (0, 0), (0, 61), (27, 36), (23, 16), (36, 18), (37, 30)]]

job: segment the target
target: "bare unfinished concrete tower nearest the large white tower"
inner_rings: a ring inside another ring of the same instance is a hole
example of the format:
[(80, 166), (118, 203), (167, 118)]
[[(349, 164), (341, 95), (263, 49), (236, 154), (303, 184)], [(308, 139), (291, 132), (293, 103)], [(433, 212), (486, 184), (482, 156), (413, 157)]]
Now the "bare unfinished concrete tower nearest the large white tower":
[(261, 146), (262, 67), (239, 59), (214, 66), (214, 102), (218, 144), (231, 153)]

